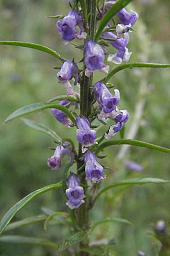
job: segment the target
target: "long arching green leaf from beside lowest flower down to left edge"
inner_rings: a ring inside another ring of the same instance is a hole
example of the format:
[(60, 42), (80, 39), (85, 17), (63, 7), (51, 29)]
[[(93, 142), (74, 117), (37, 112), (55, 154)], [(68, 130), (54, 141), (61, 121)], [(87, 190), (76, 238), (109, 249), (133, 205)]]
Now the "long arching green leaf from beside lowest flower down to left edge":
[(42, 193), (45, 193), (46, 191), (61, 188), (62, 183), (59, 182), (57, 184), (51, 184), (44, 188), (37, 189), (36, 191), (33, 191), (29, 195), (25, 196), (22, 200), (18, 201), (13, 207), (11, 207), (8, 212), (3, 216), (1, 222), (0, 222), (0, 234), (2, 234), (3, 230), (6, 228), (8, 223), (12, 220), (12, 218), (15, 216), (16, 213), (19, 212), (20, 209), (22, 209), (26, 204), (29, 203), (29, 201), (35, 199), (37, 196), (40, 196)]

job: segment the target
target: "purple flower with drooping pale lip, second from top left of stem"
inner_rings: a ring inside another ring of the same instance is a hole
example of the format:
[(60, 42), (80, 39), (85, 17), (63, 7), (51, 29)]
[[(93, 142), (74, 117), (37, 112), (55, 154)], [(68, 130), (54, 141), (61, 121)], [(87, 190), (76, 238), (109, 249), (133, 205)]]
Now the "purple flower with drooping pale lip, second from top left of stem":
[(58, 81), (63, 84), (67, 90), (67, 95), (75, 94), (73, 90), (73, 86), (69, 80), (71, 77), (74, 77), (74, 85), (78, 82), (78, 67), (73, 64), (71, 60), (66, 60), (65, 63), (62, 64), (60, 71), (57, 73)]

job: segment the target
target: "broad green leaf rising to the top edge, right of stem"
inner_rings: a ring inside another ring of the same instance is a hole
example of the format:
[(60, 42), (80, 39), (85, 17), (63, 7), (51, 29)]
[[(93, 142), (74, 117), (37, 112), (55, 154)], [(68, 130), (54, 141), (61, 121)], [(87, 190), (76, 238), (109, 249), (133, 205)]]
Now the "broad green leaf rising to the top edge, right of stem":
[(109, 20), (113, 18), (114, 15), (118, 13), (122, 8), (124, 8), (128, 3), (130, 3), (132, 0), (118, 0), (112, 7), (107, 11), (107, 13), (103, 16), (103, 18), (100, 21), (99, 28), (96, 32), (95, 36), (95, 42), (97, 42), (100, 38), (100, 35), (102, 31), (104, 30), (105, 26), (107, 26), (107, 23)]

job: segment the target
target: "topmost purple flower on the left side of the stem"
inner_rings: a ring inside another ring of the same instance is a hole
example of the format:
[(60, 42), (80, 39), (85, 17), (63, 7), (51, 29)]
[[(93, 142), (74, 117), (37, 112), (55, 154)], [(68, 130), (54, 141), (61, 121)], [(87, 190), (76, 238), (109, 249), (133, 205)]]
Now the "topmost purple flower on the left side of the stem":
[[(63, 19), (57, 21), (56, 25), (61, 39), (66, 42), (70, 42), (75, 38), (80, 40), (86, 39), (87, 34), (84, 32), (83, 28), (83, 17), (79, 11), (69, 11)], [(76, 29), (76, 27), (78, 27), (78, 29)]]

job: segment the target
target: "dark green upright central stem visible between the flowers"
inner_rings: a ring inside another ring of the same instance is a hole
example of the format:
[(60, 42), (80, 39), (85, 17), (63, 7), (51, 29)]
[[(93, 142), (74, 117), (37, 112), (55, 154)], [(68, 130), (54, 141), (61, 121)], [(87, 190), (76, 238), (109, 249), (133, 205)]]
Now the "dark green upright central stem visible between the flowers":
[[(89, 18), (89, 31), (88, 31), (88, 39), (94, 40), (95, 31), (96, 31), (96, 0), (86, 0), (87, 6), (87, 15), (90, 14)], [(86, 66), (84, 65), (84, 70)], [(80, 83), (80, 114), (84, 115), (84, 117), (88, 117), (91, 113), (91, 96), (92, 96), (92, 75), (90, 77), (85, 76), (85, 72), (83, 72), (83, 80)], [(79, 144), (79, 153), (78, 157), (82, 157), (82, 146)], [(78, 174), (84, 173), (83, 160), (78, 160), (77, 168)], [(87, 183), (85, 180), (85, 175), (80, 175), (80, 183), (84, 187), (84, 193), (86, 195), (86, 203), (82, 204), (78, 210), (76, 211), (77, 214), (77, 222), (80, 229), (88, 230), (88, 192), (87, 192)], [(84, 246), (88, 245), (88, 240), (85, 238), (80, 243), (80, 249)], [(86, 252), (82, 252), (81, 256), (88, 256), (89, 254)]]

